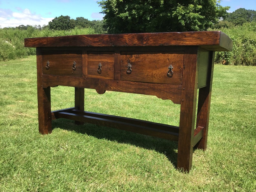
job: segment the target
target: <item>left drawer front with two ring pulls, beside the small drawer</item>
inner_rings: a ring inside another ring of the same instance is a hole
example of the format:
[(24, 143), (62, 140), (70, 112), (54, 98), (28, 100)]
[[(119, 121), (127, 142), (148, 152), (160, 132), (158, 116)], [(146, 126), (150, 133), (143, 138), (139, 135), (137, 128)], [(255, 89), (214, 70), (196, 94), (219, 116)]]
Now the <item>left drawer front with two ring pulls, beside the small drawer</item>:
[(82, 77), (82, 51), (43, 51), (43, 74)]

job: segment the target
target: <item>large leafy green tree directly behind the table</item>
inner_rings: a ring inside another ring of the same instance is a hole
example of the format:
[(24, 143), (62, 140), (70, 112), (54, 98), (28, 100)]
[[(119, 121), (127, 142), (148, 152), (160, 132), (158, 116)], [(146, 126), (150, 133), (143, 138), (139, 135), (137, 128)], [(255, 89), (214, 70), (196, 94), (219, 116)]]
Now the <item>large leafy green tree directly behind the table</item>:
[(226, 17), (217, 0), (103, 0), (108, 33), (201, 31)]

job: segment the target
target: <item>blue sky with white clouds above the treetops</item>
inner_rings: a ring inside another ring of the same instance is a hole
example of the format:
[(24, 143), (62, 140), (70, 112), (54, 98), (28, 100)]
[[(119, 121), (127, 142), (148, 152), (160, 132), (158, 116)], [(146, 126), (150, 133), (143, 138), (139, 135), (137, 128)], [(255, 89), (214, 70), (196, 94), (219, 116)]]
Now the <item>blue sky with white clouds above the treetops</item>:
[[(102, 20), (100, 0), (0, 0), (0, 28), (19, 25), (47, 25), (55, 17), (84, 17)], [(256, 10), (255, 0), (222, 0), (222, 6), (230, 6), (229, 12), (239, 8)]]

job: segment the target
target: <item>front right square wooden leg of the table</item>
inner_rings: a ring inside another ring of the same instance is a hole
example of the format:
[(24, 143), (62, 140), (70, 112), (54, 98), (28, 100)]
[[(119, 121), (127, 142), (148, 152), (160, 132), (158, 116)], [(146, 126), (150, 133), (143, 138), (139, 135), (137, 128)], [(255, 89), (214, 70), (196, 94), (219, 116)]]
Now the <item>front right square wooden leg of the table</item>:
[(192, 167), (198, 79), (197, 51), (197, 47), (190, 47), (184, 52), (177, 158), (177, 168), (184, 172), (189, 172)]

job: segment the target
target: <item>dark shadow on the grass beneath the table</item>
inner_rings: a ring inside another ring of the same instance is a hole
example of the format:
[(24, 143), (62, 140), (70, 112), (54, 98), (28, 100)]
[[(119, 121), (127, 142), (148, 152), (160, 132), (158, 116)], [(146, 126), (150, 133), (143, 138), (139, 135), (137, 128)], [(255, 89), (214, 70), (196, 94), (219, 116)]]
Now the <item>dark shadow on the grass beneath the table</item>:
[(178, 142), (142, 135), (129, 131), (119, 130), (110, 127), (97, 126), (84, 123), (76, 125), (74, 121), (67, 119), (56, 119), (52, 121), (52, 128), (61, 128), (63, 130), (75, 131), (77, 133), (93, 136), (97, 139), (107, 139), (117, 141), (118, 143), (129, 143), (131, 145), (144, 149), (155, 150), (165, 154), (169, 161), (177, 168), (177, 149)]

